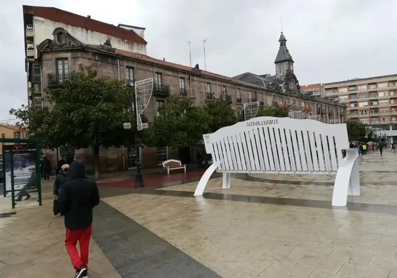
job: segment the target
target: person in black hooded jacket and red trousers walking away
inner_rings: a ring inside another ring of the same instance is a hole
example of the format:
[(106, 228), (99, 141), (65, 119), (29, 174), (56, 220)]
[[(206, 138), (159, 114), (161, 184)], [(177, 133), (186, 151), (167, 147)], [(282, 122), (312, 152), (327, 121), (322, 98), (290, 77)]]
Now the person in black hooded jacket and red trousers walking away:
[[(61, 215), (65, 215), (66, 251), (76, 271), (76, 278), (87, 277), (92, 209), (98, 204), (99, 192), (95, 181), (85, 176), (85, 167), (81, 161), (73, 161), (61, 187), (58, 205)], [(77, 242), (80, 255), (76, 248)]]

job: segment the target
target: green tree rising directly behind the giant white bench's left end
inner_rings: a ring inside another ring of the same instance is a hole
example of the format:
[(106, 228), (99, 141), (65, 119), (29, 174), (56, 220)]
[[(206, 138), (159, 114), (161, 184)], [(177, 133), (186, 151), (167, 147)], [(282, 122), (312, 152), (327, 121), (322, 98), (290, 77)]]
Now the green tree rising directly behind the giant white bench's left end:
[(211, 117), (208, 133), (216, 132), (218, 129), (234, 125), (238, 122), (238, 116), (230, 104), (221, 99), (207, 100), (204, 107), (205, 112)]

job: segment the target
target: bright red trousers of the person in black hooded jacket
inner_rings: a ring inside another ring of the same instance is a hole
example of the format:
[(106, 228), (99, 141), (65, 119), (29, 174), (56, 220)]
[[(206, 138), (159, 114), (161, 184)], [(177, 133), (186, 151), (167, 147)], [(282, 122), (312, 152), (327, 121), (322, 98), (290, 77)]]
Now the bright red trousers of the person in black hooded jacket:
[[(81, 266), (88, 267), (88, 252), (90, 248), (92, 226), (89, 225), (84, 229), (70, 230), (66, 229), (65, 245), (69, 254), (70, 261), (75, 269)], [(78, 255), (76, 244), (80, 246), (80, 256)]]

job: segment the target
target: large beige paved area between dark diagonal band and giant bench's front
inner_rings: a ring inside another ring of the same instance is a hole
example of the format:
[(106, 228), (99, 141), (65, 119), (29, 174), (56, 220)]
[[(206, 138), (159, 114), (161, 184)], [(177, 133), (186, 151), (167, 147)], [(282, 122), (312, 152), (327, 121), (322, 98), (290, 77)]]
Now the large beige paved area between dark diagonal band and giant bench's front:
[(386, 278), (397, 270), (395, 214), (148, 194), (104, 201), (223, 278)]

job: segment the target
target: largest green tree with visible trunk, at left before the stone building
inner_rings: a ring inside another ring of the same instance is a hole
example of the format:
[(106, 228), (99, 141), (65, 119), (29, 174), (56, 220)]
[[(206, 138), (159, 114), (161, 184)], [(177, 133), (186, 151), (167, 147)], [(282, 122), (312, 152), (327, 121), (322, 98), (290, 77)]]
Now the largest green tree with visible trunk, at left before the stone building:
[(51, 109), (11, 109), (46, 147), (66, 145), (92, 147), (95, 176), (99, 177), (99, 147), (118, 147), (131, 143), (134, 126), (131, 109), (133, 90), (120, 80), (99, 78), (97, 72), (80, 65), (69, 82), (46, 89)]

